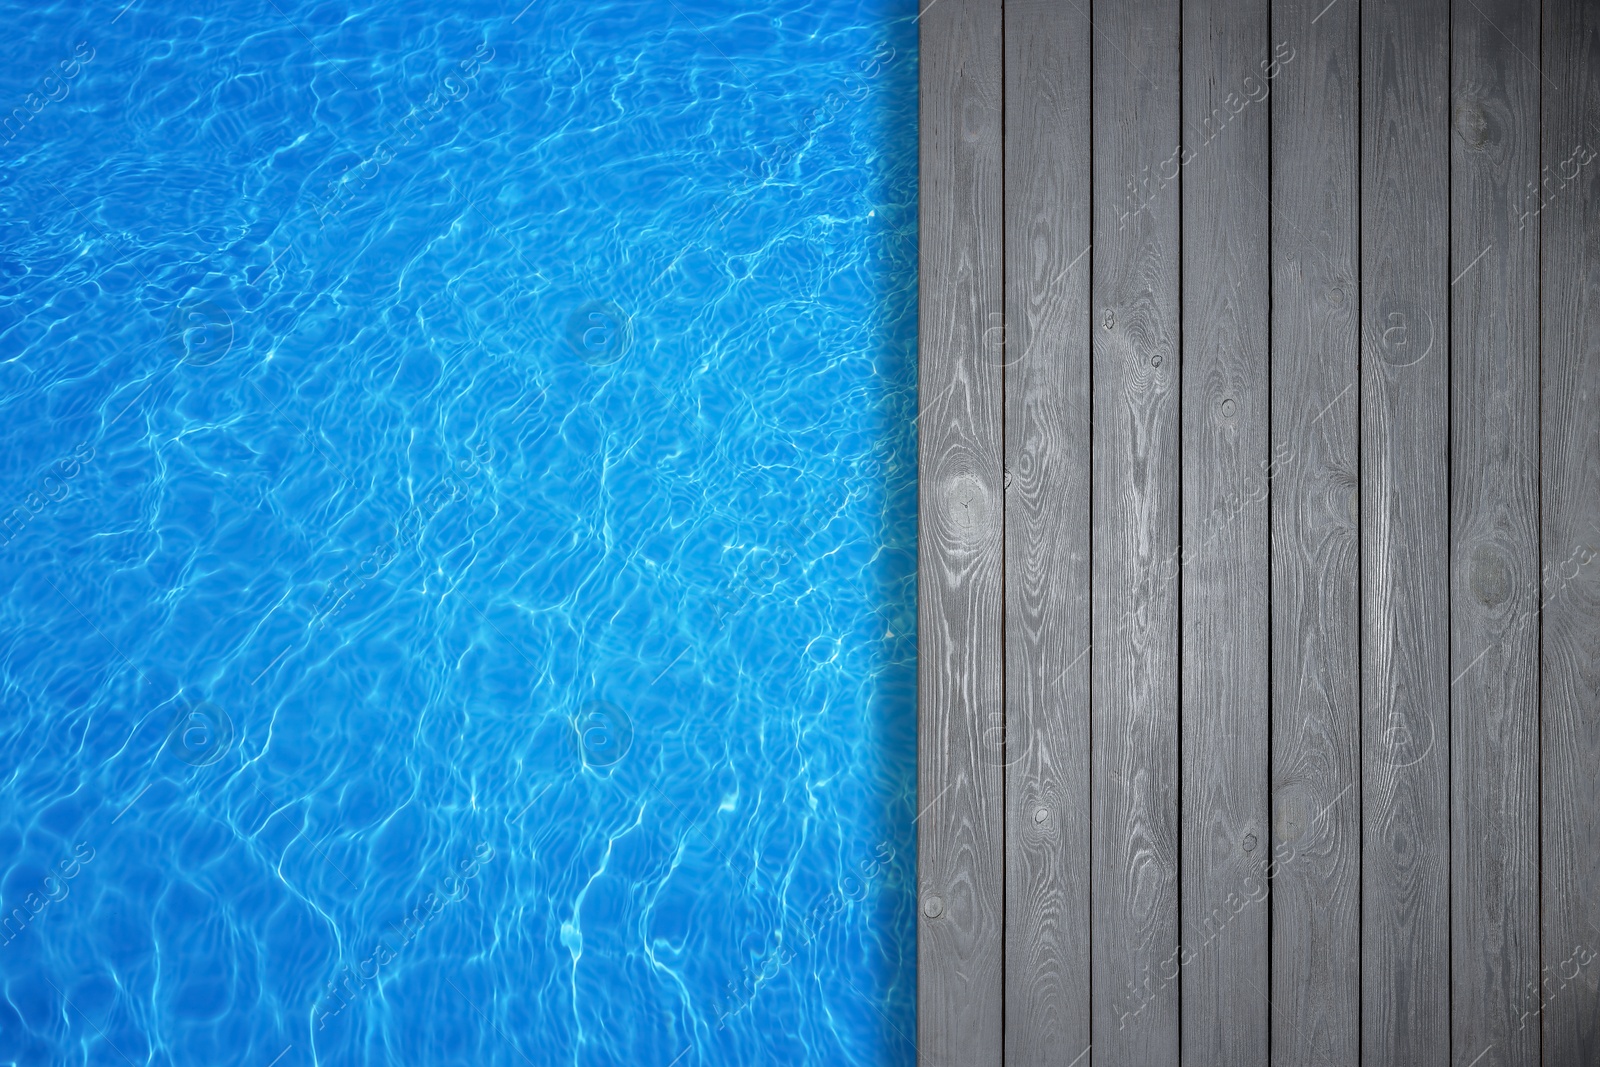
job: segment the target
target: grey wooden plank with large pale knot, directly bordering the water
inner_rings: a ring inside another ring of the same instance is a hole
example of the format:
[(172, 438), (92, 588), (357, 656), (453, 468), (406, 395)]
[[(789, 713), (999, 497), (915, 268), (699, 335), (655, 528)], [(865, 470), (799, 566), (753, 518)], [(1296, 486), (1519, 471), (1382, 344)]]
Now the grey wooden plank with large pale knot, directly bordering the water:
[(1003, 310), (1000, 0), (920, 32), (917, 1033), (923, 1064), (1000, 1064)]

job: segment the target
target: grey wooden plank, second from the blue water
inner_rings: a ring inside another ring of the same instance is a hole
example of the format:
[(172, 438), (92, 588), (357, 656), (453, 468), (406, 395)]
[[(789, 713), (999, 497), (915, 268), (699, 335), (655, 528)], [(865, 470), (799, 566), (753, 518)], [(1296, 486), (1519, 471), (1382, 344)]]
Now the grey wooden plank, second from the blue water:
[(1070, 0), (1006, 3), (1011, 1067), (1090, 1045), (1090, 35)]

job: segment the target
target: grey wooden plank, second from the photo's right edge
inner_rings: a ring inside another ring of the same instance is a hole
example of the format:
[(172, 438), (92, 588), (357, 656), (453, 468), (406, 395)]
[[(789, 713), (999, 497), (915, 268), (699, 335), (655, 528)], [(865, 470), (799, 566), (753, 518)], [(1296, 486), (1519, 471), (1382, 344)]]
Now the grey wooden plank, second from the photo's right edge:
[(1451, 16), (1450, 798), (1454, 1061), (1534, 1067), (1539, 977), (1539, 8)]

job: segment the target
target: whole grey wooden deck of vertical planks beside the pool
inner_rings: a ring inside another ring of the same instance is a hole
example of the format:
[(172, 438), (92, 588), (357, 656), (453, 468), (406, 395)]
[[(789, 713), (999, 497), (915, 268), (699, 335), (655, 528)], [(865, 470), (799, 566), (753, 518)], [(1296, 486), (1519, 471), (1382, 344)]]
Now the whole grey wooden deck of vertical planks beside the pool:
[(1600, 1064), (1600, 3), (923, 6), (922, 1062)]

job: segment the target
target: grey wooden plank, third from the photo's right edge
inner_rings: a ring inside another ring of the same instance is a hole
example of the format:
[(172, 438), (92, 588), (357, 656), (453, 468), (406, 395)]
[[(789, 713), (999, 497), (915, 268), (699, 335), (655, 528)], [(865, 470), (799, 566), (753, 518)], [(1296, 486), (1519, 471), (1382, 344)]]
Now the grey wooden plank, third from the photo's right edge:
[(1362, 1061), (1450, 1067), (1450, 11), (1362, 8)]

